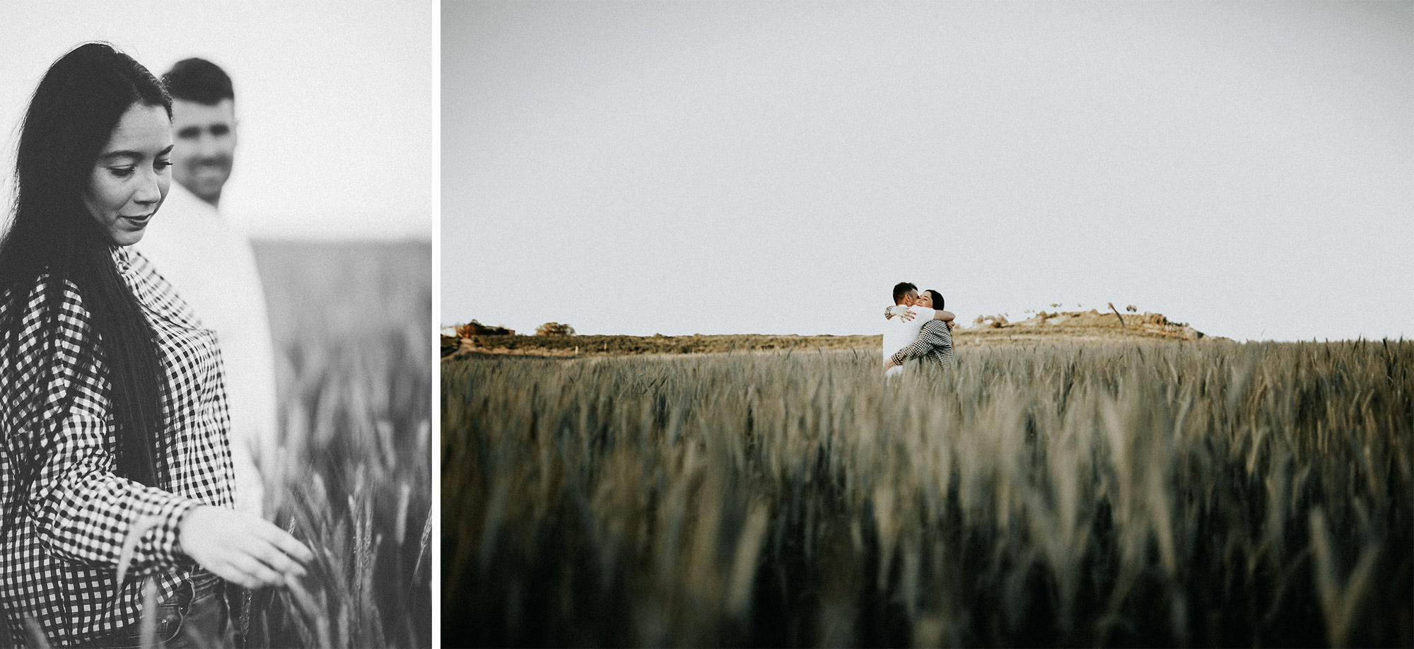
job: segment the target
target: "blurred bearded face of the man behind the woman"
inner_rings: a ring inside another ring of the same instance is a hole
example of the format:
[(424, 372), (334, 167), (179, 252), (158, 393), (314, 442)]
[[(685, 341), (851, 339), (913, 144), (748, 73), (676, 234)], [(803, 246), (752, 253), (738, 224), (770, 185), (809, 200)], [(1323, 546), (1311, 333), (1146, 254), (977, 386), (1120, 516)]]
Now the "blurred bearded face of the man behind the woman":
[(202, 201), (216, 205), (230, 178), (236, 153), (235, 102), (216, 105), (173, 99), (173, 178)]

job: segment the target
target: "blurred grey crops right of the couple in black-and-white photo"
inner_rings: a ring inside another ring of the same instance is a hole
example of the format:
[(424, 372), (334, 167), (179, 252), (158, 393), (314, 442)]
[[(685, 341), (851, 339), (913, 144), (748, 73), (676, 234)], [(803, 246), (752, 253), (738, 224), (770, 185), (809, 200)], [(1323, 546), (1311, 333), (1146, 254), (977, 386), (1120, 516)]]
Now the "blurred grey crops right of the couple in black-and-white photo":
[(284, 452), (266, 510), (315, 550), (255, 646), (431, 646), (431, 247), (262, 243)]

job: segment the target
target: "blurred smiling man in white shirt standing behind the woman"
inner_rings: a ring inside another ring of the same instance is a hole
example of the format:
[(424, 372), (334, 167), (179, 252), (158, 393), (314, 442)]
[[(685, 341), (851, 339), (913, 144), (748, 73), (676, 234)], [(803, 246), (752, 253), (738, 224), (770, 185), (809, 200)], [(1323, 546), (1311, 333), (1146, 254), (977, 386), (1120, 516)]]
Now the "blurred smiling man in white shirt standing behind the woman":
[(178, 61), (163, 81), (173, 96), (173, 182), (139, 247), (216, 332), (226, 369), (236, 508), (259, 515), (256, 458), (276, 448), (274, 348), (250, 240), (216, 208), (236, 151), (235, 92), (215, 64)]

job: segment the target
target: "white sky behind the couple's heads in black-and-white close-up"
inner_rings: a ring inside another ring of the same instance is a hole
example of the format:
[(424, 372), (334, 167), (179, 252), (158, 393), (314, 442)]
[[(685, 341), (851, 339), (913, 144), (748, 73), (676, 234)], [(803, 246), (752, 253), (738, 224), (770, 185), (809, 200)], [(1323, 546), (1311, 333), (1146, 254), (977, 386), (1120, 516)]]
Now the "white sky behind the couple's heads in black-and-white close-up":
[(434, 20), (427, 0), (0, 3), (3, 205), (40, 78), (100, 40), (156, 75), (202, 57), (232, 76), (240, 143), (222, 211), (252, 236), (430, 239)]

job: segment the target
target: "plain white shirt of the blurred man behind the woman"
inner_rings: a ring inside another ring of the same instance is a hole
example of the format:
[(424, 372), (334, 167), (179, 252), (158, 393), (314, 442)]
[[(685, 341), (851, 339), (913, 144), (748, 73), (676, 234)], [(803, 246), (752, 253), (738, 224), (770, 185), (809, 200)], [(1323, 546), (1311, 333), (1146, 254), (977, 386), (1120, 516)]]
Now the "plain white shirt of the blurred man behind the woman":
[(226, 370), (236, 509), (260, 513), (263, 488), (253, 457), (273, 457), (274, 344), (264, 290), (245, 232), (178, 182), (137, 250), (216, 332)]

